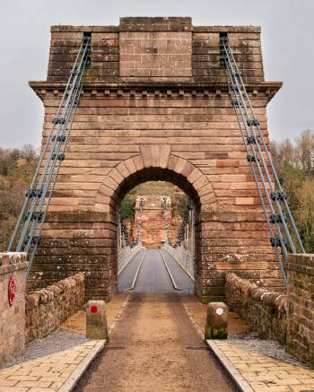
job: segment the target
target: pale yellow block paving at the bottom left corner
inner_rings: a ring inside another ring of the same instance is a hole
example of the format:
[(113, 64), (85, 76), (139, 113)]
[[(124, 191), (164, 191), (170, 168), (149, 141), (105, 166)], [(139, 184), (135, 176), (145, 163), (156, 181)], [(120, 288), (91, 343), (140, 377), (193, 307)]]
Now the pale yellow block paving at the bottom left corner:
[(98, 341), (76, 345), (0, 371), (1, 392), (55, 392), (92, 353)]

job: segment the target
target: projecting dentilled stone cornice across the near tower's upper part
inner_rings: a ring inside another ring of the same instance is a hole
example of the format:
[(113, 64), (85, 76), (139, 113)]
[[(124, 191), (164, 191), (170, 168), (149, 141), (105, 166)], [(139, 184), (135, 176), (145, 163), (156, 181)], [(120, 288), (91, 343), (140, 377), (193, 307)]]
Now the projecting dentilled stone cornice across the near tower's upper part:
[[(31, 88), (43, 100), (47, 96), (58, 96), (65, 90), (66, 83), (31, 81)], [(252, 96), (271, 100), (283, 85), (282, 82), (246, 84)], [(206, 98), (228, 94), (226, 83), (84, 83), (86, 98)]]

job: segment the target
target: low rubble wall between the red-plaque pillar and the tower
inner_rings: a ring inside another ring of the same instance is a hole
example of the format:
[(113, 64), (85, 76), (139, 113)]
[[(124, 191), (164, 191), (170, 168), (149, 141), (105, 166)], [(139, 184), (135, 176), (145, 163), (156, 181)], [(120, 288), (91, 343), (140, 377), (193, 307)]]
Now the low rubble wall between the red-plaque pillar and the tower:
[(84, 301), (84, 275), (74, 274), (63, 281), (26, 295), (26, 343), (48, 335), (77, 310)]

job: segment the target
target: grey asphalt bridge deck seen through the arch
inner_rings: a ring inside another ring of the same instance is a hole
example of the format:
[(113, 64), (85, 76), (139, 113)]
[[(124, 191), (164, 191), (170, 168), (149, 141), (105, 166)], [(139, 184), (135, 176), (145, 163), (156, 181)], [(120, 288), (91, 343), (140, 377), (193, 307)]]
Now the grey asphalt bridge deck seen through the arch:
[(178, 292), (171, 282), (161, 253), (176, 286), (185, 292), (194, 292), (194, 282), (190, 276), (168, 252), (158, 249), (143, 249), (133, 257), (119, 275), (118, 290), (130, 289), (135, 283), (135, 292)]

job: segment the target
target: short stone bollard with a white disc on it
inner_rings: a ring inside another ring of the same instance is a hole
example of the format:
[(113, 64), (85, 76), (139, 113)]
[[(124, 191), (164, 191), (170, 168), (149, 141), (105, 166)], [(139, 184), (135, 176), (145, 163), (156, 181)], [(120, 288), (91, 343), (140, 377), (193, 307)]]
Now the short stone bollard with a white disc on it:
[(223, 302), (211, 302), (207, 308), (205, 339), (228, 337), (228, 307)]

